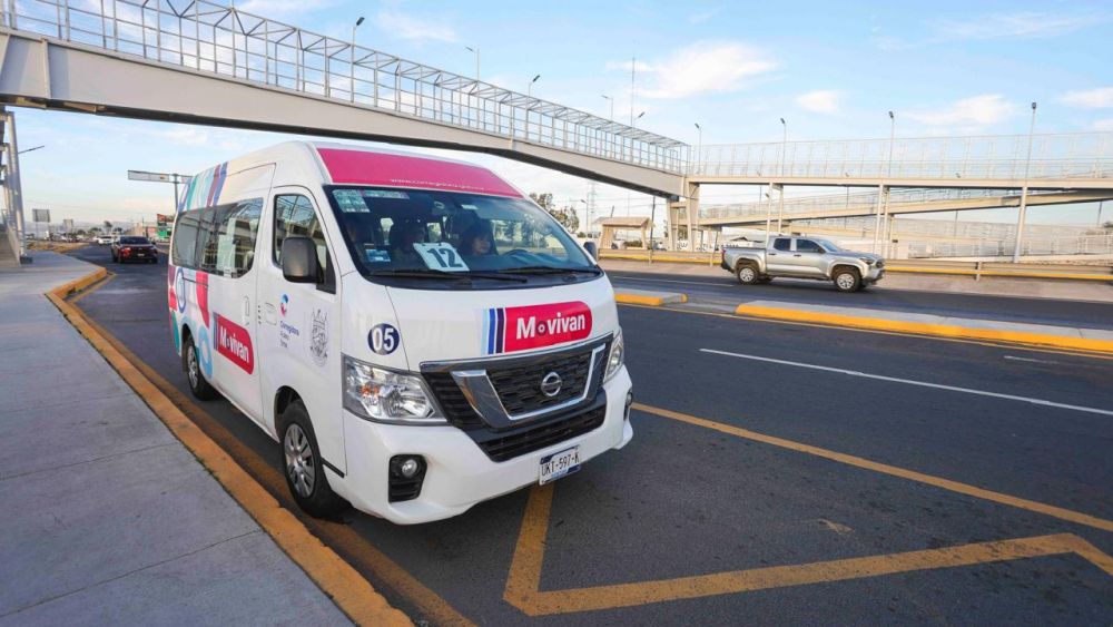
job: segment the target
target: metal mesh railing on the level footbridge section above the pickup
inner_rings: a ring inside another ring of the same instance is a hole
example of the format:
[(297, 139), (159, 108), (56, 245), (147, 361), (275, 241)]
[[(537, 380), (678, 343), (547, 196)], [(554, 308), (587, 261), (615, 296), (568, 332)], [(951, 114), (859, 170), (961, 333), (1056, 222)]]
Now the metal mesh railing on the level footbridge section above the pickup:
[(700, 147), (689, 174), (752, 178), (1113, 178), (1113, 133), (769, 141)]

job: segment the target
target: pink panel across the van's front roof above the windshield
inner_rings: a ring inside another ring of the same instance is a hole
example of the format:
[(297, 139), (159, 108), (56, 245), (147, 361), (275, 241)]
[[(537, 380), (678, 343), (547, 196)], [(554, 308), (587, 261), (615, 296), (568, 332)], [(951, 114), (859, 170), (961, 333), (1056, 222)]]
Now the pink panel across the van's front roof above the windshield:
[(317, 153), (333, 183), (338, 185), (383, 185), (521, 197), (516, 189), (491, 170), (467, 164), (339, 148), (317, 148)]

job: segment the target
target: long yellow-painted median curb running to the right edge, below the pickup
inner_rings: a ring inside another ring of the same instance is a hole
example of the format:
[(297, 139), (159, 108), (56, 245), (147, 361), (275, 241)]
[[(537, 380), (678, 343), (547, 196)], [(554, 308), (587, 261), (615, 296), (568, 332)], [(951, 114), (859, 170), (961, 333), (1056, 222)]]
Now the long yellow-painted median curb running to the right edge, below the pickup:
[(1090, 340), (1085, 337), (1065, 337), (1025, 331), (999, 331), (996, 329), (973, 329), (951, 324), (933, 324), (927, 322), (905, 322), (877, 317), (817, 313), (782, 307), (765, 307), (759, 305), (738, 305), (737, 315), (787, 320), (792, 322), (815, 322), (853, 329), (870, 329), (877, 331), (894, 331), (897, 333), (915, 333), (917, 335), (939, 335), (944, 337), (965, 337), (969, 340), (989, 340), (1014, 344), (1033, 344), (1113, 353), (1113, 340)]

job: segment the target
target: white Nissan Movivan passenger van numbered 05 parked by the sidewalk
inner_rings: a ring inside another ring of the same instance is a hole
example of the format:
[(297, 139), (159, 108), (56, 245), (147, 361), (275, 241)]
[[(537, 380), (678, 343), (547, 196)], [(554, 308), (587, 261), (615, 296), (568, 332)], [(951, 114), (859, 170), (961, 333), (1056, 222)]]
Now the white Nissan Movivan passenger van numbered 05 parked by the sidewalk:
[(279, 442), (312, 515), (447, 518), (633, 437), (610, 282), (487, 169), (280, 144), (195, 176), (170, 249), (190, 390)]

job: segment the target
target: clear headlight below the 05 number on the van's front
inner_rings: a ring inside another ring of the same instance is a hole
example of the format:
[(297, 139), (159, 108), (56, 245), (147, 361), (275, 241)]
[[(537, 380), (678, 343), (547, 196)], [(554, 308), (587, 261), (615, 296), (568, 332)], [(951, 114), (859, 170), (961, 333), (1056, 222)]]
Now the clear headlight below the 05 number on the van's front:
[(421, 378), (344, 355), (344, 409), (368, 420), (443, 424)]

